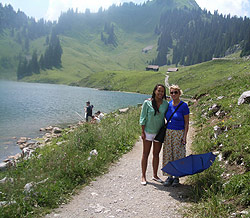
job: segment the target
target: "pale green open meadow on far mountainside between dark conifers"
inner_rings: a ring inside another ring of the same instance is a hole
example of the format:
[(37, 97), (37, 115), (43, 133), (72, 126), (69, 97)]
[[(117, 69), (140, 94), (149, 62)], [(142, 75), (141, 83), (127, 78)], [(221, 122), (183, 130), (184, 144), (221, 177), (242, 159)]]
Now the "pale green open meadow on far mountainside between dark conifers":
[[(60, 36), (63, 47), (62, 68), (41, 71), (39, 75), (32, 75), (24, 81), (77, 83), (93, 73), (107, 70), (143, 70), (147, 61), (156, 55), (157, 38), (153, 34), (126, 34), (117, 28), (117, 47), (104, 45), (100, 34), (88, 37), (85, 34), (79, 31), (74, 36)], [(154, 45), (154, 48), (148, 53), (142, 53), (142, 49), (148, 45)]]

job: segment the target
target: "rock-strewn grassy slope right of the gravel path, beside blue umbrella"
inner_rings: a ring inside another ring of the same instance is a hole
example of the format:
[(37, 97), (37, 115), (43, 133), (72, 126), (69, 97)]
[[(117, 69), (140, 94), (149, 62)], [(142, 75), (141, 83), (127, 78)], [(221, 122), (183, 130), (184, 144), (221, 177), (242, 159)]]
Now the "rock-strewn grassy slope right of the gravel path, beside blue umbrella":
[[(240, 95), (250, 90), (249, 63), (226, 63), (216, 61), (218, 71), (210, 71), (215, 78), (219, 73), (224, 74), (224, 80), (212, 80), (206, 85), (201, 81), (201, 85), (192, 90), (197, 96), (192, 107), (197, 128), (193, 153), (212, 151), (217, 159), (209, 170), (189, 178), (195, 204), (188, 211), (188, 217), (249, 217), (250, 214), (249, 103), (237, 104)], [(229, 66), (233, 65), (236, 66), (230, 71)], [(200, 65), (196, 69), (202, 68)], [(217, 114), (211, 110), (213, 105), (219, 108)], [(215, 127), (220, 129), (216, 137)]]

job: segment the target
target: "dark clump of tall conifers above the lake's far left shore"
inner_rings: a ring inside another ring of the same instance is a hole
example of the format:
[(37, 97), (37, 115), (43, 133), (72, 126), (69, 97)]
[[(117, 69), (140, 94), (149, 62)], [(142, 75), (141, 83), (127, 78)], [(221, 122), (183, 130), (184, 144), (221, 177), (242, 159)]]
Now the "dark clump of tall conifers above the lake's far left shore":
[(62, 47), (60, 40), (55, 31), (52, 31), (51, 37), (46, 38), (47, 48), (44, 54), (41, 54), (39, 60), (37, 51), (34, 50), (31, 59), (27, 57), (19, 57), (17, 67), (17, 79), (20, 80), (32, 74), (39, 74), (40, 70), (52, 69), (53, 67), (61, 67)]

